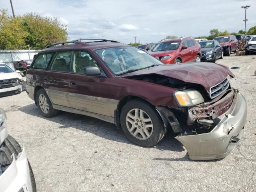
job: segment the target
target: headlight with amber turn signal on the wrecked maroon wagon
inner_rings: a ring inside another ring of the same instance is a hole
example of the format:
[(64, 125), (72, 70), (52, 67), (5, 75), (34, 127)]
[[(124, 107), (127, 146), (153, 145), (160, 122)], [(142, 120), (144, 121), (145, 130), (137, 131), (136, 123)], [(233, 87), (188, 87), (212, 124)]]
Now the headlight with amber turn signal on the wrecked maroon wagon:
[(194, 106), (204, 102), (203, 96), (197, 90), (176, 91), (174, 98), (181, 107)]

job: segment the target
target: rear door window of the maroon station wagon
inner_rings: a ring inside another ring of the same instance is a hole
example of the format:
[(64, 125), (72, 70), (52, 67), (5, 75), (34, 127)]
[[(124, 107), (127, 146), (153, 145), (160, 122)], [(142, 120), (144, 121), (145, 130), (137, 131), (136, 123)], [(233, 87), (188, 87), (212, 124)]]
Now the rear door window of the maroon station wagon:
[(50, 67), (51, 71), (70, 72), (71, 51), (57, 52)]

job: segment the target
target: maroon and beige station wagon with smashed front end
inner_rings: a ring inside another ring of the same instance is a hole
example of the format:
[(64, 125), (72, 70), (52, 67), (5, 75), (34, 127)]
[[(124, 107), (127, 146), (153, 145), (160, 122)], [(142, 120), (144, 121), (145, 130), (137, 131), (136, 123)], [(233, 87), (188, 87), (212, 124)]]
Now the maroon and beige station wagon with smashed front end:
[(113, 123), (140, 146), (168, 129), (192, 160), (224, 158), (240, 142), (246, 100), (220, 64), (163, 64), (109, 40), (46, 46), (27, 71), (27, 94), (45, 117), (59, 110)]

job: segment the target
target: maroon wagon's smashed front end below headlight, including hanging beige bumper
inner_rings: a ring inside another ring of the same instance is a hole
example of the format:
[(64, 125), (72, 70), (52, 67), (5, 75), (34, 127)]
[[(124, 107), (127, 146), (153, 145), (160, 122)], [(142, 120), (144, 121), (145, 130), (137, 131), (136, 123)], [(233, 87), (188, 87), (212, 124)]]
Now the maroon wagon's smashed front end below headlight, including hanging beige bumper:
[[(166, 113), (174, 109), (157, 107), (157, 110), (174, 132), (180, 132), (176, 139), (184, 145), (191, 160), (213, 160), (230, 154), (242, 138), (247, 112), (244, 96), (233, 88), (210, 102), (187, 108), (187, 113), (183, 109), (183, 115), (177, 118), (169, 118)], [(185, 118), (186, 124), (182, 123)]]

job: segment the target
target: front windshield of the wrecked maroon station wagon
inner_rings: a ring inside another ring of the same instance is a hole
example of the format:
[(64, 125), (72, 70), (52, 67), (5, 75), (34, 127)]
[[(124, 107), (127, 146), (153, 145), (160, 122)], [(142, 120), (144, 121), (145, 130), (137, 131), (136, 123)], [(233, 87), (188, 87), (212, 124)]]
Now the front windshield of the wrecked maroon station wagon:
[(95, 53), (116, 75), (163, 64), (146, 52), (130, 46), (104, 48)]

